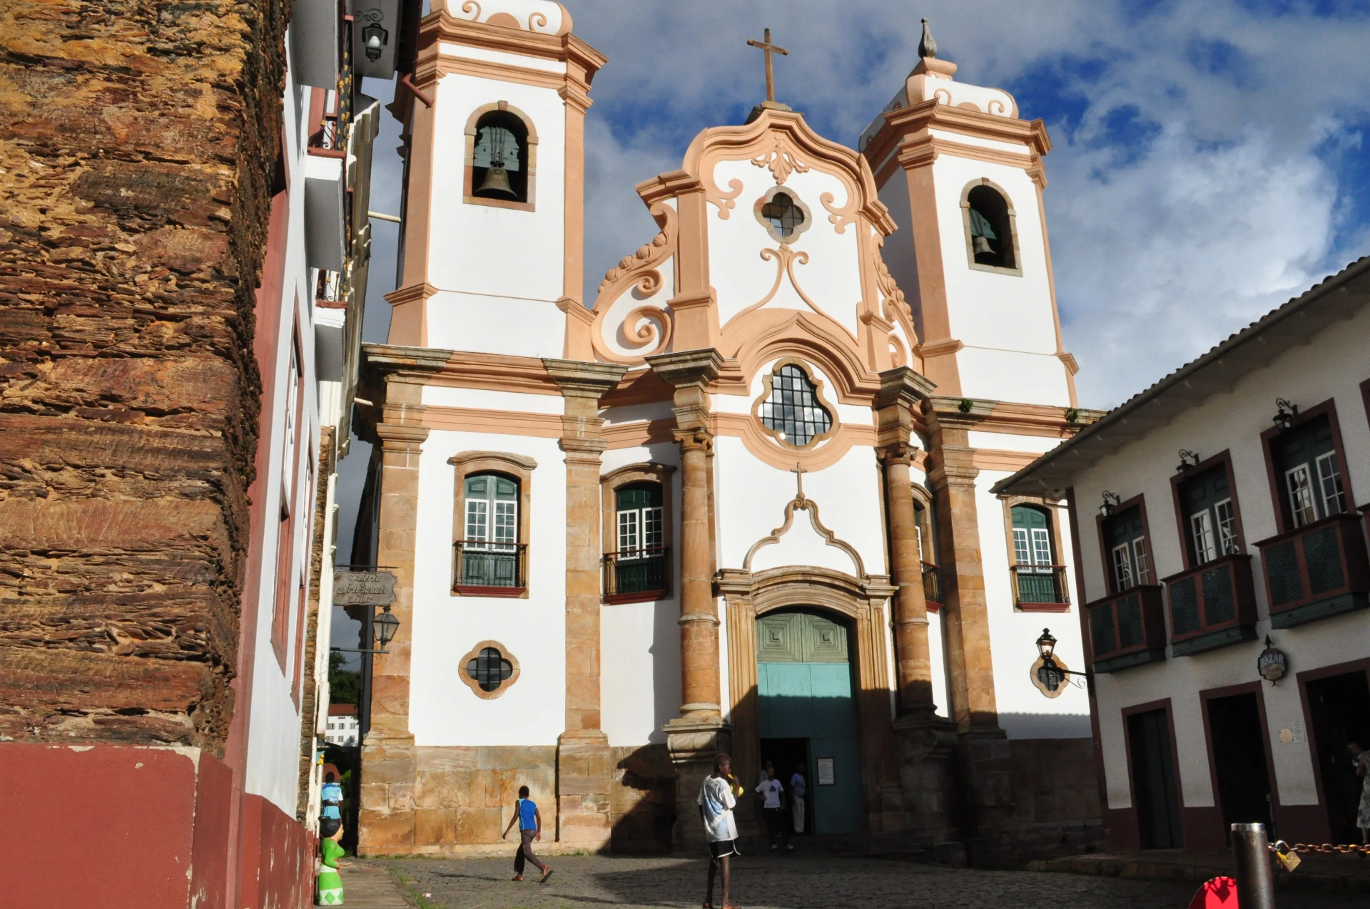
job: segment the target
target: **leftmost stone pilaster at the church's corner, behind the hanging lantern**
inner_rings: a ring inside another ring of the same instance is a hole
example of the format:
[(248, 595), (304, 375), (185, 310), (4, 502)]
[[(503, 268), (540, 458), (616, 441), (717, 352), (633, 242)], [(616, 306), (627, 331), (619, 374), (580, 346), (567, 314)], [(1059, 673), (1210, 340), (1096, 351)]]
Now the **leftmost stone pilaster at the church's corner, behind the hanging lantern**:
[[(377, 352), (379, 350), (379, 353)], [(390, 613), (400, 620), (385, 656), (371, 668), (371, 728), (362, 743), (358, 850), (366, 856), (414, 846), (414, 734), (410, 732), (410, 645), (414, 638), (414, 559), (418, 535), (423, 385), (447, 363), (447, 350), (373, 348), (369, 366), (388, 371), (381, 445), (379, 534), (375, 564), (395, 574)], [(393, 370), (393, 371), (392, 371)], [(374, 642), (367, 646), (374, 646)]]

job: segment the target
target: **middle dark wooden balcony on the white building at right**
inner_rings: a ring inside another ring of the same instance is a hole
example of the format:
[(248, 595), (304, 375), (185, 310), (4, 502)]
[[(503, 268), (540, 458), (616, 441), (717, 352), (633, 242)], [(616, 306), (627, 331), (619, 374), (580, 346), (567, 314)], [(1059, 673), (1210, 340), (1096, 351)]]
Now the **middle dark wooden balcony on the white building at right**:
[(1170, 601), (1170, 645), (1184, 657), (1256, 639), (1251, 556), (1232, 554), (1162, 580)]

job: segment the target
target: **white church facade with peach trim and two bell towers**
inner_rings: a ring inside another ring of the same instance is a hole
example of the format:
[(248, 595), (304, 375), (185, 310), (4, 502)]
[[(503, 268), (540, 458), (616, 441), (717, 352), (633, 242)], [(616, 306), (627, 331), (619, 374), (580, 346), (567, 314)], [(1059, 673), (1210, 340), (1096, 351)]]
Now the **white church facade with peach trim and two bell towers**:
[(362, 852), (507, 849), (521, 784), (549, 852), (686, 846), (719, 750), (744, 782), (803, 768), (807, 832), (1097, 839), (1086, 695), (1029, 674), (1044, 626), (1082, 663), (1071, 527), (989, 491), (1092, 419), (1043, 123), (925, 31), (859, 151), (773, 100), (701, 131), (584, 300), (606, 59), (560, 4), (433, 8), (358, 402), (352, 561), (395, 571), (401, 623)]

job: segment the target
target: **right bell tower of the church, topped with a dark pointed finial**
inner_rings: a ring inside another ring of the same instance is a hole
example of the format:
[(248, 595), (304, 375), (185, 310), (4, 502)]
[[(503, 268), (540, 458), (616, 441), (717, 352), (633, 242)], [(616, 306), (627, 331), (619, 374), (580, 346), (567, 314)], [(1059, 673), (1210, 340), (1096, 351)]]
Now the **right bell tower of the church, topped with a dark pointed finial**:
[(1075, 407), (1043, 209), (1047, 127), (1007, 92), (955, 81), (926, 19), (918, 55), (859, 149), (900, 226), (884, 257), (923, 370), (941, 396)]

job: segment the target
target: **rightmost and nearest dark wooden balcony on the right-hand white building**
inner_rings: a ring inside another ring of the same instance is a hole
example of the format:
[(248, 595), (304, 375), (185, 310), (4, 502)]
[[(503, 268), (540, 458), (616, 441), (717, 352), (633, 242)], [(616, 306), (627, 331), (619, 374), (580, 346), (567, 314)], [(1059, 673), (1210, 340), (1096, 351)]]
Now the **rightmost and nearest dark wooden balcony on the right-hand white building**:
[(1266, 572), (1270, 627), (1292, 628), (1366, 606), (1370, 564), (1355, 515), (1323, 517), (1256, 548)]

